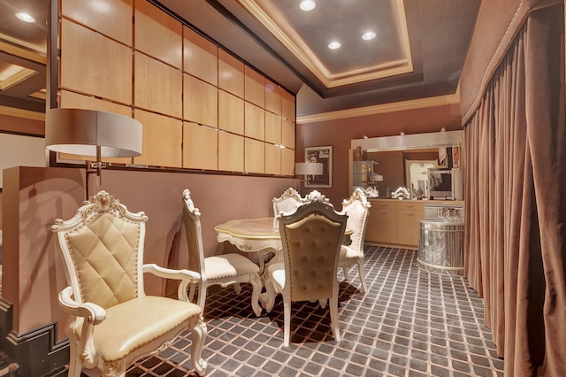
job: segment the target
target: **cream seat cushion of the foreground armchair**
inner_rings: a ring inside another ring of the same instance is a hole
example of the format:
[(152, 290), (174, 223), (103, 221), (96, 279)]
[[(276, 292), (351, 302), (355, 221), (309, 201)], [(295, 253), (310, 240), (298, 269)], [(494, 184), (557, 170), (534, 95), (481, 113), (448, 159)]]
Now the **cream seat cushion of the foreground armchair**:
[(106, 319), (95, 327), (94, 342), (101, 358), (119, 360), (176, 327), (200, 315), (192, 303), (160, 296), (142, 296), (106, 310)]

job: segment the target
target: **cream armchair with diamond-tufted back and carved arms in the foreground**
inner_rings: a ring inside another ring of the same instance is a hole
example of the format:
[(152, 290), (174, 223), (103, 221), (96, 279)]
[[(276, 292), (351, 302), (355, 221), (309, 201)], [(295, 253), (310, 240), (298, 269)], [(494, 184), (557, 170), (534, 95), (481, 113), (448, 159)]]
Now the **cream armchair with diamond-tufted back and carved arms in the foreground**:
[[(125, 376), (135, 360), (164, 350), (183, 330), (192, 333), (196, 373), (206, 371), (201, 357), (206, 325), (201, 308), (187, 298), (188, 284), (200, 276), (143, 264), (147, 219), (100, 191), (72, 219), (56, 219), (51, 226), (68, 284), (58, 300), (72, 319), (69, 376), (79, 377), (83, 367)], [(146, 296), (143, 273), (180, 280), (179, 299)]]

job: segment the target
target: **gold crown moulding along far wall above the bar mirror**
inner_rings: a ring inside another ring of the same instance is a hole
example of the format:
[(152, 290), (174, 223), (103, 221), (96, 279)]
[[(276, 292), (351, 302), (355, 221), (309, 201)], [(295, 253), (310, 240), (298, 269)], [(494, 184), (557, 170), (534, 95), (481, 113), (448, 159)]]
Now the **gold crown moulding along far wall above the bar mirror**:
[(326, 120), (346, 119), (363, 117), (367, 115), (382, 114), (386, 112), (403, 112), (408, 110), (423, 109), (446, 104), (460, 104), (460, 92), (447, 96), (431, 96), (426, 98), (411, 99), (389, 104), (374, 104), (371, 106), (357, 107), (356, 109), (339, 110), (336, 112), (321, 112), (319, 114), (304, 115), (296, 118), (297, 124), (322, 122)]

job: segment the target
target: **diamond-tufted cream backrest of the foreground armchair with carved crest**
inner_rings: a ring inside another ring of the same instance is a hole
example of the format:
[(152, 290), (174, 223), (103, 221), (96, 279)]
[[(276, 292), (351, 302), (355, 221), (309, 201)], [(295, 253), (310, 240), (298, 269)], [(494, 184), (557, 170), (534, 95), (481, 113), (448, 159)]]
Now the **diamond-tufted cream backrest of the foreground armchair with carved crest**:
[(143, 212), (129, 212), (124, 204), (100, 191), (82, 205), (72, 219), (56, 219), (67, 283), (79, 302), (107, 309), (142, 296)]

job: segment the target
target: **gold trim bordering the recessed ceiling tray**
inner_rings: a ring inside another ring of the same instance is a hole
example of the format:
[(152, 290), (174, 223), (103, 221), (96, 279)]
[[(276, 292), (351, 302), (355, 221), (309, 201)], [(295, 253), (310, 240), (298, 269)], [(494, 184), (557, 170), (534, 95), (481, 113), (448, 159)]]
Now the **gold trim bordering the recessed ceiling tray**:
[[(344, 85), (356, 84), (364, 81), (373, 81), (403, 73), (413, 72), (412, 57), (409, 46), (409, 31), (405, 6), (402, 0), (395, 0), (398, 18), (396, 19), (397, 33), (401, 36), (402, 50), (405, 58), (384, 65), (374, 65), (346, 73), (331, 73), (304, 43), (299, 35), (294, 35), (295, 41), (279, 27), (264, 10), (256, 4), (255, 0), (239, 0), (240, 4), (248, 10), (295, 58), (298, 58), (311, 73), (313, 73), (326, 88), (336, 88)], [(282, 21), (279, 21), (282, 22)]]

